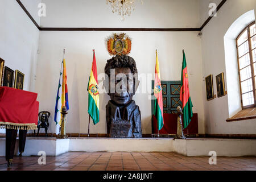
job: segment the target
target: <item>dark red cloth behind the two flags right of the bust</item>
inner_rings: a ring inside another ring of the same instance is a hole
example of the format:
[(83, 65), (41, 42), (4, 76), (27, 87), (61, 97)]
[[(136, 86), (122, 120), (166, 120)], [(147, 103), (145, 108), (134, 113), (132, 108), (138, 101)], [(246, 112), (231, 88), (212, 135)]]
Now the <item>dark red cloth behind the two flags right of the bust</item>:
[[(164, 126), (162, 130), (159, 131), (159, 134), (177, 134), (177, 114), (163, 114), (164, 117)], [(154, 115), (153, 118), (153, 131), (154, 134), (158, 134), (158, 122)], [(183, 117), (182, 117), (183, 119)], [(183, 130), (184, 134), (198, 134), (198, 115), (193, 114), (191, 122), (188, 127)]]

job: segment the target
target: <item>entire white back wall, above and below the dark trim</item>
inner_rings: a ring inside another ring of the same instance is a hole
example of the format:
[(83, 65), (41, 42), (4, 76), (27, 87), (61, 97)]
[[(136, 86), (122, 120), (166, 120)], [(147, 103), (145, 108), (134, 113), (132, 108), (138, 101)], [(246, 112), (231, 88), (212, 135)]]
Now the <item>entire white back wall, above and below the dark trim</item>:
[[(46, 3), (46, 17), (42, 27), (200, 27), (199, 0), (145, 0), (144, 5), (135, 7), (130, 17), (122, 22), (113, 14), (105, 1), (43, 0)], [(74, 11), (75, 10), (75, 11)], [(98, 74), (104, 73), (106, 60), (112, 56), (106, 49), (106, 38), (115, 32), (53, 32), (41, 31), (36, 92), (39, 93), (39, 110), (51, 111), (50, 133), (54, 133), (53, 122), (57, 83), (63, 48), (66, 49), (68, 93), (70, 110), (68, 133), (87, 133), (88, 92), (86, 86), (92, 65), (92, 49), (96, 49)], [(117, 32), (119, 33), (119, 32)], [(182, 49), (187, 54), (189, 81), (194, 113), (199, 113), (199, 133), (204, 133), (204, 111), (202, 93), (201, 43), (198, 32), (125, 32), (132, 38), (131, 55), (137, 61), (139, 74), (154, 74), (155, 49), (159, 52), (162, 80), (180, 80)], [(100, 79), (100, 78), (98, 78)], [(148, 80), (151, 88), (152, 76)], [(99, 80), (100, 81), (100, 80)], [(150, 94), (137, 93), (134, 97), (142, 113), (143, 134), (151, 133)], [(105, 106), (110, 100), (107, 94), (100, 96), (100, 123), (91, 124), (90, 133), (106, 133)]]

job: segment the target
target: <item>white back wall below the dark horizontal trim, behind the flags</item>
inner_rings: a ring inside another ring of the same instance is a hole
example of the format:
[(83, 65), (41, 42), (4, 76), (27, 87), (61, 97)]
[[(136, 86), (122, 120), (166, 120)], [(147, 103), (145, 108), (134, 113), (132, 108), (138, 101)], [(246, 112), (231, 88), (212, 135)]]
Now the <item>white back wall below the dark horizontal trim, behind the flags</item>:
[[(202, 100), (201, 44), (197, 32), (125, 32), (132, 40), (130, 56), (137, 62), (139, 74), (154, 74), (155, 49), (158, 49), (162, 80), (180, 80), (182, 49), (187, 56), (190, 90), (194, 113), (199, 113), (199, 133), (204, 133), (204, 110)], [(59, 81), (63, 48), (66, 49), (69, 114), (67, 133), (87, 133), (88, 130), (88, 84), (92, 67), (92, 49), (96, 50), (98, 75), (104, 73), (108, 54), (105, 39), (113, 32), (90, 31), (42, 31), (39, 40), (39, 59), (36, 92), (40, 102), (39, 110), (49, 110), (52, 114), (49, 132), (54, 132), (53, 123), (57, 84)], [(99, 81), (100, 78), (98, 77)], [(148, 80), (148, 88), (151, 88)], [(150, 94), (136, 94), (134, 100), (141, 109), (143, 134), (151, 133)], [(110, 100), (107, 94), (100, 95), (100, 123), (90, 126), (90, 133), (106, 133), (105, 106)]]

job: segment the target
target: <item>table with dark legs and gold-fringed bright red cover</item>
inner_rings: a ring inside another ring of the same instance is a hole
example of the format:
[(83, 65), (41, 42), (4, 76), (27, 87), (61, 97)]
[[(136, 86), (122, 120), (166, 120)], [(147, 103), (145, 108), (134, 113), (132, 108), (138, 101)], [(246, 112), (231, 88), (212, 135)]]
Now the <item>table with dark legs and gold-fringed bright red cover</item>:
[(39, 102), (37, 93), (0, 87), (0, 128), (6, 129), (6, 160), (13, 161), (17, 131), (19, 152), (24, 152), (27, 130), (37, 129)]

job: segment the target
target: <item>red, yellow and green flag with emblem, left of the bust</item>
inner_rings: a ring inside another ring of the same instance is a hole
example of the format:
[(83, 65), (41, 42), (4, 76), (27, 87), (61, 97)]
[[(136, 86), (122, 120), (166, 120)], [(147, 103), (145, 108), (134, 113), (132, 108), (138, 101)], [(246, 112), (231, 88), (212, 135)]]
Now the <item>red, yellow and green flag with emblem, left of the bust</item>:
[(94, 125), (100, 121), (100, 96), (98, 93), (98, 76), (95, 51), (93, 50), (93, 63), (92, 71), (90, 72), (90, 78), (88, 83), (89, 98), (88, 98), (88, 113), (93, 119)]

